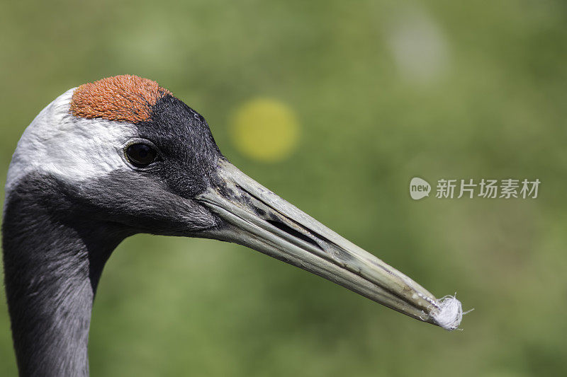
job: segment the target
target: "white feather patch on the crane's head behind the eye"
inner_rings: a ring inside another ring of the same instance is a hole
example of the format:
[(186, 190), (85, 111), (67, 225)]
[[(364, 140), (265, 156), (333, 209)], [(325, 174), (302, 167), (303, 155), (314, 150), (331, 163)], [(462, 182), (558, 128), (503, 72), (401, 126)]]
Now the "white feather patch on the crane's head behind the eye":
[(32, 171), (80, 183), (128, 168), (120, 153), (137, 136), (135, 125), (74, 117), (69, 113), (73, 91), (47, 105), (23, 132), (8, 170), (6, 197)]

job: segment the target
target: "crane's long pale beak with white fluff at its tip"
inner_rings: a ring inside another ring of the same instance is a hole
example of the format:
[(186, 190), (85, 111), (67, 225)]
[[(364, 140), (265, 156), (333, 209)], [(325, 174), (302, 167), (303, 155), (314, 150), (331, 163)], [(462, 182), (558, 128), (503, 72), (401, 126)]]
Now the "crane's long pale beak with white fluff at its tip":
[(196, 197), (225, 221), (206, 236), (245, 245), (447, 330), (459, 326), (461, 303), (438, 300), (405, 274), (220, 161), (216, 187)]

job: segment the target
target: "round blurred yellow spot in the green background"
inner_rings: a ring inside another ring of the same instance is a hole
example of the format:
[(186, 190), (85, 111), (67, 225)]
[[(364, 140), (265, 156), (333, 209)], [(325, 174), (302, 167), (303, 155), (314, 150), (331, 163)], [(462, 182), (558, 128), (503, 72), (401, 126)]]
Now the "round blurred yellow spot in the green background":
[(299, 124), (285, 103), (257, 98), (234, 112), (230, 133), (240, 152), (259, 161), (273, 162), (286, 158), (295, 149)]

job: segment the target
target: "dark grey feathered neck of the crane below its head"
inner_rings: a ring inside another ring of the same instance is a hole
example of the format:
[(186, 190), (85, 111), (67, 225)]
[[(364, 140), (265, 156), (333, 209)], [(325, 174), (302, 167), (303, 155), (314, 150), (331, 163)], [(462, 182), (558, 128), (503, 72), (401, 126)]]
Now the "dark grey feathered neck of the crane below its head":
[(91, 216), (72, 216), (64, 202), (28, 188), (11, 192), (2, 224), (18, 370), (20, 376), (88, 376), (96, 285), (124, 236), (99, 223), (76, 221)]

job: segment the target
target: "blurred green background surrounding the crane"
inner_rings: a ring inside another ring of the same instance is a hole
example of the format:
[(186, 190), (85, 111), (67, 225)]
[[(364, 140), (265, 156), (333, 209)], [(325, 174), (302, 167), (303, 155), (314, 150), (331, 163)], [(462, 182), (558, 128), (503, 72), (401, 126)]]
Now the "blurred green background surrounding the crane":
[[(1, 187), (47, 103), (137, 74), (253, 178), (475, 311), (447, 332), (237, 245), (140, 235), (103, 273), (93, 376), (567, 375), (565, 1), (179, 3), (1, 0)], [(283, 156), (239, 148), (233, 114), (254, 98), (295, 117)], [(541, 186), (416, 202), (414, 176)], [(0, 298), (0, 375), (15, 376)]]

